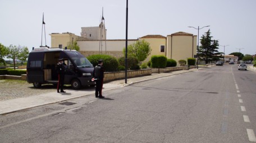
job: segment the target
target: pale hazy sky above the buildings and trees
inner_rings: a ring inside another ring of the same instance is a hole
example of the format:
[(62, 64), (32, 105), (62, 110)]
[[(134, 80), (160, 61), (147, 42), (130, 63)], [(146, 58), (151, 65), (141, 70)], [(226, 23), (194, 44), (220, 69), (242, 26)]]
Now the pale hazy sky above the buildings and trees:
[[(220, 52), (256, 54), (255, 0), (128, 0), (128, 39), (187, 32), (201, 37), (208, 30)], [(51, 33), (81, 36), (81, 27), (99, 26), (102, 8), (107, 39), (126, 38), (125, 0), (1, 0), (0, 43), (39, 47), (44, 13), (46, 45)], [(189, 28), (193, 26), (195, 28)], [(45, 45), (43, 34), (43, 45)]]

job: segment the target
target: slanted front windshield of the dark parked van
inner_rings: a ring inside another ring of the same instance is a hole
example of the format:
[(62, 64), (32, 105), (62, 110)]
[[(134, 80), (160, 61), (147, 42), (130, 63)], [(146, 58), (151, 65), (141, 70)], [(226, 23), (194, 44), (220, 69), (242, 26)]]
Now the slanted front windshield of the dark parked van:
[(93, 65), (88, 59), (77, 51), (66, 51), (72, 61), (76, 64), (77, 68), (93, 68)]

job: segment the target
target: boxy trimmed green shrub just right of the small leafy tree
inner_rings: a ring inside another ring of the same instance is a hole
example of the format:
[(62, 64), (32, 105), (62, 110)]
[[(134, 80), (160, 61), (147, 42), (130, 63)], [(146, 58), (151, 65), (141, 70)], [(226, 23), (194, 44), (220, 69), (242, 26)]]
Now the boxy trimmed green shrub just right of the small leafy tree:
[(165, 68), (167, 64), (167, 58), (163, 55), (153, 55), (151, 57), (152, 68)]

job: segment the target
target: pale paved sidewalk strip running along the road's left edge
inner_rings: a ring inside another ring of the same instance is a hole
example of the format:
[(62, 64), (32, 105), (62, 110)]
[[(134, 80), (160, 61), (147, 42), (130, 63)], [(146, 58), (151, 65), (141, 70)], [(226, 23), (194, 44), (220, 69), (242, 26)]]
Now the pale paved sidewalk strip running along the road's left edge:
[[(203, 69), (199, 68), (198, 70)], [(190, 69), (190, 70), (179, 70), (170, 73), (153, 73), (152, 75), (144, 76), (144, 77), (136, 77), (136, 78), (129, 78), (127, 79), (127, 84), (125, 84), (125, 79), (115, 80), (112, 82), (108, 82), (103, 84), (103, 92), (107, 90), (112, 90), (116, 88), (121, 88), (126, 85), (131, 85), (138, 82), (143, 82), (145, 80), (168, 77), (175, 74), (182, 74), (195, 71), (197, 69)], [(6, 101), (0, 101), (0, 115), (11, 113), (15, 111), (20, 111), (22, 109), (28, 109), (38, 106), (43, 106), (45, 104), (57, 103), (62, 101), (67, 101), (68, 99), (79, 98), (83, 96), (94, 96), (95, 89), (86, 89), (86, 90), (72, 90), (67, 89), (65, 90), (66, 93), (45, 93), (40, 94), (38, 96), (31, 96), (31, 97), (23, 97), (23, 98), (16, 98), (10, 99)]]

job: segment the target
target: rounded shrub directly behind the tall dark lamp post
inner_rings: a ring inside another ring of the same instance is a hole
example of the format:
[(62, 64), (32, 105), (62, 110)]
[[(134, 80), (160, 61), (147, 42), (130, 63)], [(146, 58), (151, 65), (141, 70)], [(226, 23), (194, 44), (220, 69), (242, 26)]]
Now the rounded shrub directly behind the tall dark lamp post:
[[(119, 64), (122, 66), (125, 66), (125, 57), (121, 57), (118, 59)], [(136, 68), (138, 68), (139, 61), (138, 59), (136, 59), (134, 56), (128, 56), (127, 57), (127, 69), (129, 70), (134, 70)]]

